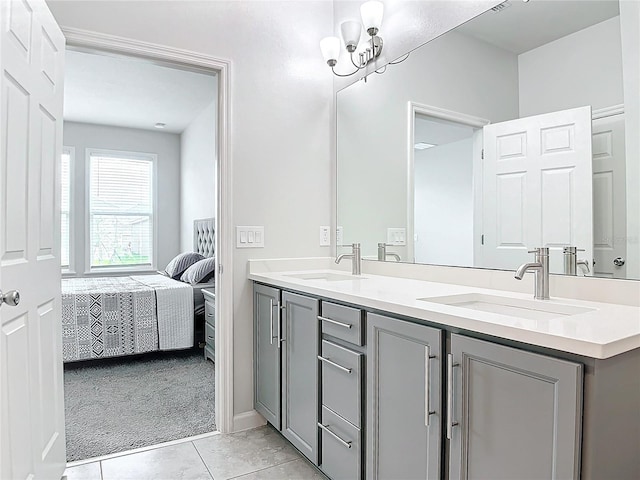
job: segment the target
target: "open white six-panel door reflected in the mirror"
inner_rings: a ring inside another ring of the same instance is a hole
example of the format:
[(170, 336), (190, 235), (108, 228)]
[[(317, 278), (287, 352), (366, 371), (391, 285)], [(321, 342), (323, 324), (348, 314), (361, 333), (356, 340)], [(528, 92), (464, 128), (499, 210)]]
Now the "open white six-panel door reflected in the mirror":
[(483, 168), (481, 266), (516, 269), (535, 247), (553, 273), (563, 246), (593, 258), (591, 107), (487, 125)]

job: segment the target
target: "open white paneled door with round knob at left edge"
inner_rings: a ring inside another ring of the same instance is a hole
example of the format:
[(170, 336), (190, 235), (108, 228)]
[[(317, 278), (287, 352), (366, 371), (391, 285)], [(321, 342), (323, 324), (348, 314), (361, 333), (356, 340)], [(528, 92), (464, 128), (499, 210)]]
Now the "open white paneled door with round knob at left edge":
[(66, 463), (60, 321), (64, 37), (44, 0), (0, 1), (0, 478)]

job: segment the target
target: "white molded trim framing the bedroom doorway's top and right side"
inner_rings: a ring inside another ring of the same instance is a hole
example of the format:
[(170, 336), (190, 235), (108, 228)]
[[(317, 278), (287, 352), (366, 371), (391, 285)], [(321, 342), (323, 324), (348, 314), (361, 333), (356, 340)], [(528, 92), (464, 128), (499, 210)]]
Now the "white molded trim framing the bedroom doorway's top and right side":
[[(199, 69), (218, 76), (216, 213), (216, 426), (222, 433), (234, 430), (233, 416), (233, 209), (231, 165), (231, 62), (198, 52), (143, 42), (98, 32), (62, 27), (67, 46), (128, 55), (163, 65)], [(224, 267), (224, 268), (223, 268)], [(223, 273), (224, 272), (224, 273)], [(242, 422), (239, 422), (242, 423)]]

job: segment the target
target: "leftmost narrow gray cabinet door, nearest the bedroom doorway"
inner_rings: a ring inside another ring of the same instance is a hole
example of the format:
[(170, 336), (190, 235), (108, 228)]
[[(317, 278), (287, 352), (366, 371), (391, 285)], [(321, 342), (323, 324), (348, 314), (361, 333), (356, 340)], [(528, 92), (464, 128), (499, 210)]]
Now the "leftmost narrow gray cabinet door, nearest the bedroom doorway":
[(280, 290), (253, 287), (254, 407), (280, 430), (280, 345), (278, 318)]

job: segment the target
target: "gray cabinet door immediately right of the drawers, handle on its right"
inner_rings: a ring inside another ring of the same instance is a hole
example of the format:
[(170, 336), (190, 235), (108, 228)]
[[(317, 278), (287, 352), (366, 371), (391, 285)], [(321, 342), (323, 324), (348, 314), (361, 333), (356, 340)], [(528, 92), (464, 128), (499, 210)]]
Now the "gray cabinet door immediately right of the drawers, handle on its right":
[(367, 479), (439, 479), (442, 331), (367, 315)]

